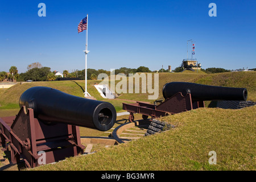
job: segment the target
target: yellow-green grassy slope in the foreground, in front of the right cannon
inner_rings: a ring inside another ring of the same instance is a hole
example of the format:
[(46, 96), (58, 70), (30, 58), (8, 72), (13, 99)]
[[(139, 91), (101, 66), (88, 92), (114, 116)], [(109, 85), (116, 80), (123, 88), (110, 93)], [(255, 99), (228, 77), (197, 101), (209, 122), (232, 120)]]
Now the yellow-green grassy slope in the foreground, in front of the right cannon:
[[(175, 129), (35, 170), (255, 170), (255, 111), (201, 108), (171, 115), (162, 120)], [(216, 165), (208, 163), (209, 151), (216, 151)]]

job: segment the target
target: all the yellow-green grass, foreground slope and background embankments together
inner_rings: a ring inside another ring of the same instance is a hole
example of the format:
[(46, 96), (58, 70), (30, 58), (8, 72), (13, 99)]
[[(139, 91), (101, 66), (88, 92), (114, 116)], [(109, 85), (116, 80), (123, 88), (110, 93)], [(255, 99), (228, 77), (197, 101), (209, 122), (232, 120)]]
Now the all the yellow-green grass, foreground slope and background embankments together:
[[(256, 101), (256, 72), (205, 74), (159, 73), (159, 98), (167, 82), (185, 81), (199, 84), (247, 88), (248, 100)], [(147, 101), (147, 94), (123, 93), (118, 99), (106, 100), (88, 81), (88, 92), (97, 100), (107, 101), (122, 111), (122, 102)], [(117, 81), (118, 82), (118, 81)], [(116, 82), (116, 84), (117, 84)], [(141, 84), (140, 84), (141, 85)], [(32, 86), (48, 86), (84, 97), (85, 81), (51, 81), (17, 84), (0, 90), (0, 117), (18, 113), (20, 95)], [(110, 148), (93, 155), (69, 158), (38, 170), (255, 170), (255, 111), (203, 108), (161, 118), (176, 125), (175, 129)], [(141, 119), (141, 115), (135, 119)], [(118, 117), (114, 127), (125, 122)], [(102, 137), (108, 134), (80, 127), (81, 136)], [(208, 163), (209, 151), (216, 151), (217, 165)]]

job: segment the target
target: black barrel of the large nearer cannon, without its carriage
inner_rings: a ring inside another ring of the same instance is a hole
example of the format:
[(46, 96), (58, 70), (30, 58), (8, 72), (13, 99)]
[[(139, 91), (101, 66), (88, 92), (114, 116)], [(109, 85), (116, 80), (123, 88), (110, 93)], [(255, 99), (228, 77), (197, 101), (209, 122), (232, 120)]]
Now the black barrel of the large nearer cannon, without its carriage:
[(72, 96), (53, 88), (35, 86), (27, 89), (19, 99), (19, 106), (34, 110), (34, 117), (46, 123), (67, 123), (106, 131), (117, 117), (109, 102)]

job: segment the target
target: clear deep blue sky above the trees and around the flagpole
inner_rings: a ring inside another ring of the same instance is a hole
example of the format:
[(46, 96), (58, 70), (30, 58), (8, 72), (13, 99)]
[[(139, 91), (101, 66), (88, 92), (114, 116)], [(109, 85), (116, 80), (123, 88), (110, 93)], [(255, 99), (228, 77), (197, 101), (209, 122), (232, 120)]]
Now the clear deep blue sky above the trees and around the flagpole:
[[(217, 16), (210, 17), (209, 3)], [(39, 3), (46, 17), (39, 17)], [(85, 68), (88, 19), (88, 68), (179, 67), (187, 40), (195, 42), (202, 67), (256, 68), (256, 1), (5, 1), (0, 2), (0, 71), (19, 73), (39, 62), (51, 71)], [(190, 51), (190, 50), (189, 50)], [(191, 56), (189, 56), (191, 57)]]

